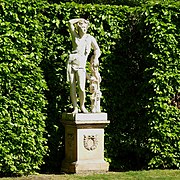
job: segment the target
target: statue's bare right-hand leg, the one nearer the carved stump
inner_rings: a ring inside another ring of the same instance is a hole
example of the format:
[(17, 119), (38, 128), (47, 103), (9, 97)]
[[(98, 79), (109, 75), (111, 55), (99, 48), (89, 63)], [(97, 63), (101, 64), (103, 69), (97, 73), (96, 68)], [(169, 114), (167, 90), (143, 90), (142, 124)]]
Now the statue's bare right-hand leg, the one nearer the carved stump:
[(81, 111), (87, 113), (87, 109), (85, 108), (85, 85), (86, 85), (86, 71), (84, 69), (79, 69), (77, 73), (78, 79), (78, 87), (79, 87), (79, 99), (80, 99), (80, 108)]

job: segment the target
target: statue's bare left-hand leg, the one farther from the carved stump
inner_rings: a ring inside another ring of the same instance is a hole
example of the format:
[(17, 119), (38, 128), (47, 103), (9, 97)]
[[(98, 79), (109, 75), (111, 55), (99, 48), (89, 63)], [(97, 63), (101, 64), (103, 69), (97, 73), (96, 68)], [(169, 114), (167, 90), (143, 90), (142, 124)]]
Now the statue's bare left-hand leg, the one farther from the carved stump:
[(78, 113), (77, 107), (77, 96), (76, 96), (76, 72), (72, 69), (69, 70), (69, 81), (70, 81), (70, 96), (73, 104), (74, 111), (73, 113)]

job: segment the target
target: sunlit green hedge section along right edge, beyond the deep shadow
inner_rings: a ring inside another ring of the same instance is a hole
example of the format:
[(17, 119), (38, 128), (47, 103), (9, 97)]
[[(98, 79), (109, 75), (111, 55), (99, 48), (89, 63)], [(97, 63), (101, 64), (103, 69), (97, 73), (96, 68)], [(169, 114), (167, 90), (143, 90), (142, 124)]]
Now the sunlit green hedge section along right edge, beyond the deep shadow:
[(148, 139), (152, 158), (150, 168), (180, 168), (180, 110), (170, 106), (172, 97), (180, 91), (180, 10), (179, 4), (164, 3), (145, 7), (148, 29), (148, 59), (154, 66), (149, 84)]

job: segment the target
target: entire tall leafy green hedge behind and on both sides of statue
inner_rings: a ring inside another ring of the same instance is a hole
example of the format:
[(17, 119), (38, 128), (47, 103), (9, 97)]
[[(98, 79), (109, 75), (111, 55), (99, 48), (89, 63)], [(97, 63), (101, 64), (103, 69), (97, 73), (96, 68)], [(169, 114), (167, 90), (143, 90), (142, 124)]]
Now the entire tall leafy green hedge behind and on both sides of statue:
[(110, 168), (179, 168), (180, 111), (171, 105), (180, 90), (179, 7), (2, 1), (0, 172), (60, 171), (60, 119), (72, 108), (67, 22), (76, 17), (89, 19), (88, 31), (102, 51), (101, 104), (111, 121), (105, 135)]

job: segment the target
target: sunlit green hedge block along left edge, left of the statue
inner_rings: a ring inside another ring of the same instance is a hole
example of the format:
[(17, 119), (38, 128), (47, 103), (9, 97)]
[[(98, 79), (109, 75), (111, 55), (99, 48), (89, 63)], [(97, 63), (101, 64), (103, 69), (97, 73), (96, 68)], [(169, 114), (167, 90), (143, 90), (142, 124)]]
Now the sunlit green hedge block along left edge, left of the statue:
[(0, 175), (37, 171), (47, 151), (39, 5), (0, 3)]

